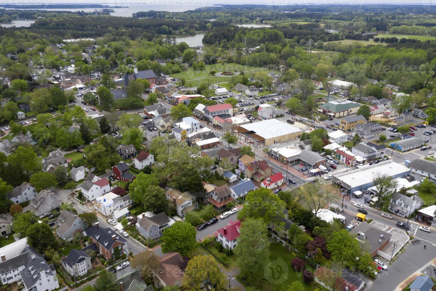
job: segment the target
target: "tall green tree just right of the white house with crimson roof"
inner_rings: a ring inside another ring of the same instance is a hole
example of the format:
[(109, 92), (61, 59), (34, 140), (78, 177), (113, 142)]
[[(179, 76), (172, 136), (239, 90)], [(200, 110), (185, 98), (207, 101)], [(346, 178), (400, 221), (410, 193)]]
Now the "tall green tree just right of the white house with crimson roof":
[(265, 268), (264, 260), (269, 258), (266, 223), (262, 219), (247, 218), (241, 223), (238, 247), (234, 252), (242, 277), (250, 284), (260, 287)]

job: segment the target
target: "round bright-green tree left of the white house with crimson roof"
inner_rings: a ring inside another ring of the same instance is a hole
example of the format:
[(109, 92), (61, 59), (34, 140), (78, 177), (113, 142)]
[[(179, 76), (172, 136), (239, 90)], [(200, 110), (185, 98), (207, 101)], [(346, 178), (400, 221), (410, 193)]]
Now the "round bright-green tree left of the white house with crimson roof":
[(196, 235), (194, 226), (188, 222), (176, 221), (169, 229), (165, 229), (160, 238), (162, 252), (177, 252), (187, 256), (196, 247)]

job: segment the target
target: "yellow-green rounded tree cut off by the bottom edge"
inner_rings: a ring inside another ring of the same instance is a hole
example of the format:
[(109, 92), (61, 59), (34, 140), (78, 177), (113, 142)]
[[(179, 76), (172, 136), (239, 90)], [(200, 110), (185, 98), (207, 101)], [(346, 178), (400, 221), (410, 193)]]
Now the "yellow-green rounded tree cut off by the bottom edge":
[[(218, 263), (212, 256), (194, 256), (189, 260), (182, 279), (183, 288), (190, 291), (197, 291), (208, 286), (214, 286), (213, 290), (225, 290), (225, 274), (221, 271)], [(216, 287), (215, 287), (216, 286)]]

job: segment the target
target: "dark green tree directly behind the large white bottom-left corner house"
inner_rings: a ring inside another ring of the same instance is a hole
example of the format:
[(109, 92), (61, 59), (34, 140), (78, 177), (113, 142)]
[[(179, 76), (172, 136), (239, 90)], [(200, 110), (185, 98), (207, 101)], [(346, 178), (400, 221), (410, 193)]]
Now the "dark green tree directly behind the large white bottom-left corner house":
[(42, 252), (48, 247), (58, 249), (58, 241), (53, 235), (53, 231), (46, 223), (34, 223), (27, 229), (27, 243)]

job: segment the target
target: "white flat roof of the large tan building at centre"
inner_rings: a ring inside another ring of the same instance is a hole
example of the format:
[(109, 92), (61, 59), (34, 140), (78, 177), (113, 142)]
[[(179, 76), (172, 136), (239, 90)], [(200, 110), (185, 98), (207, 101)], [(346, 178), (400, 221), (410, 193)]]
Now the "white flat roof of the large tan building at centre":
[(241, 125), (246, 130), (253, 131), (264, 139), (272, 139), (281, 135), (288, 135), (295, 132), (303, 132), (300, 128), (293, 127), (286, 122), (277, 119), (267, 119), (259, 122)]

